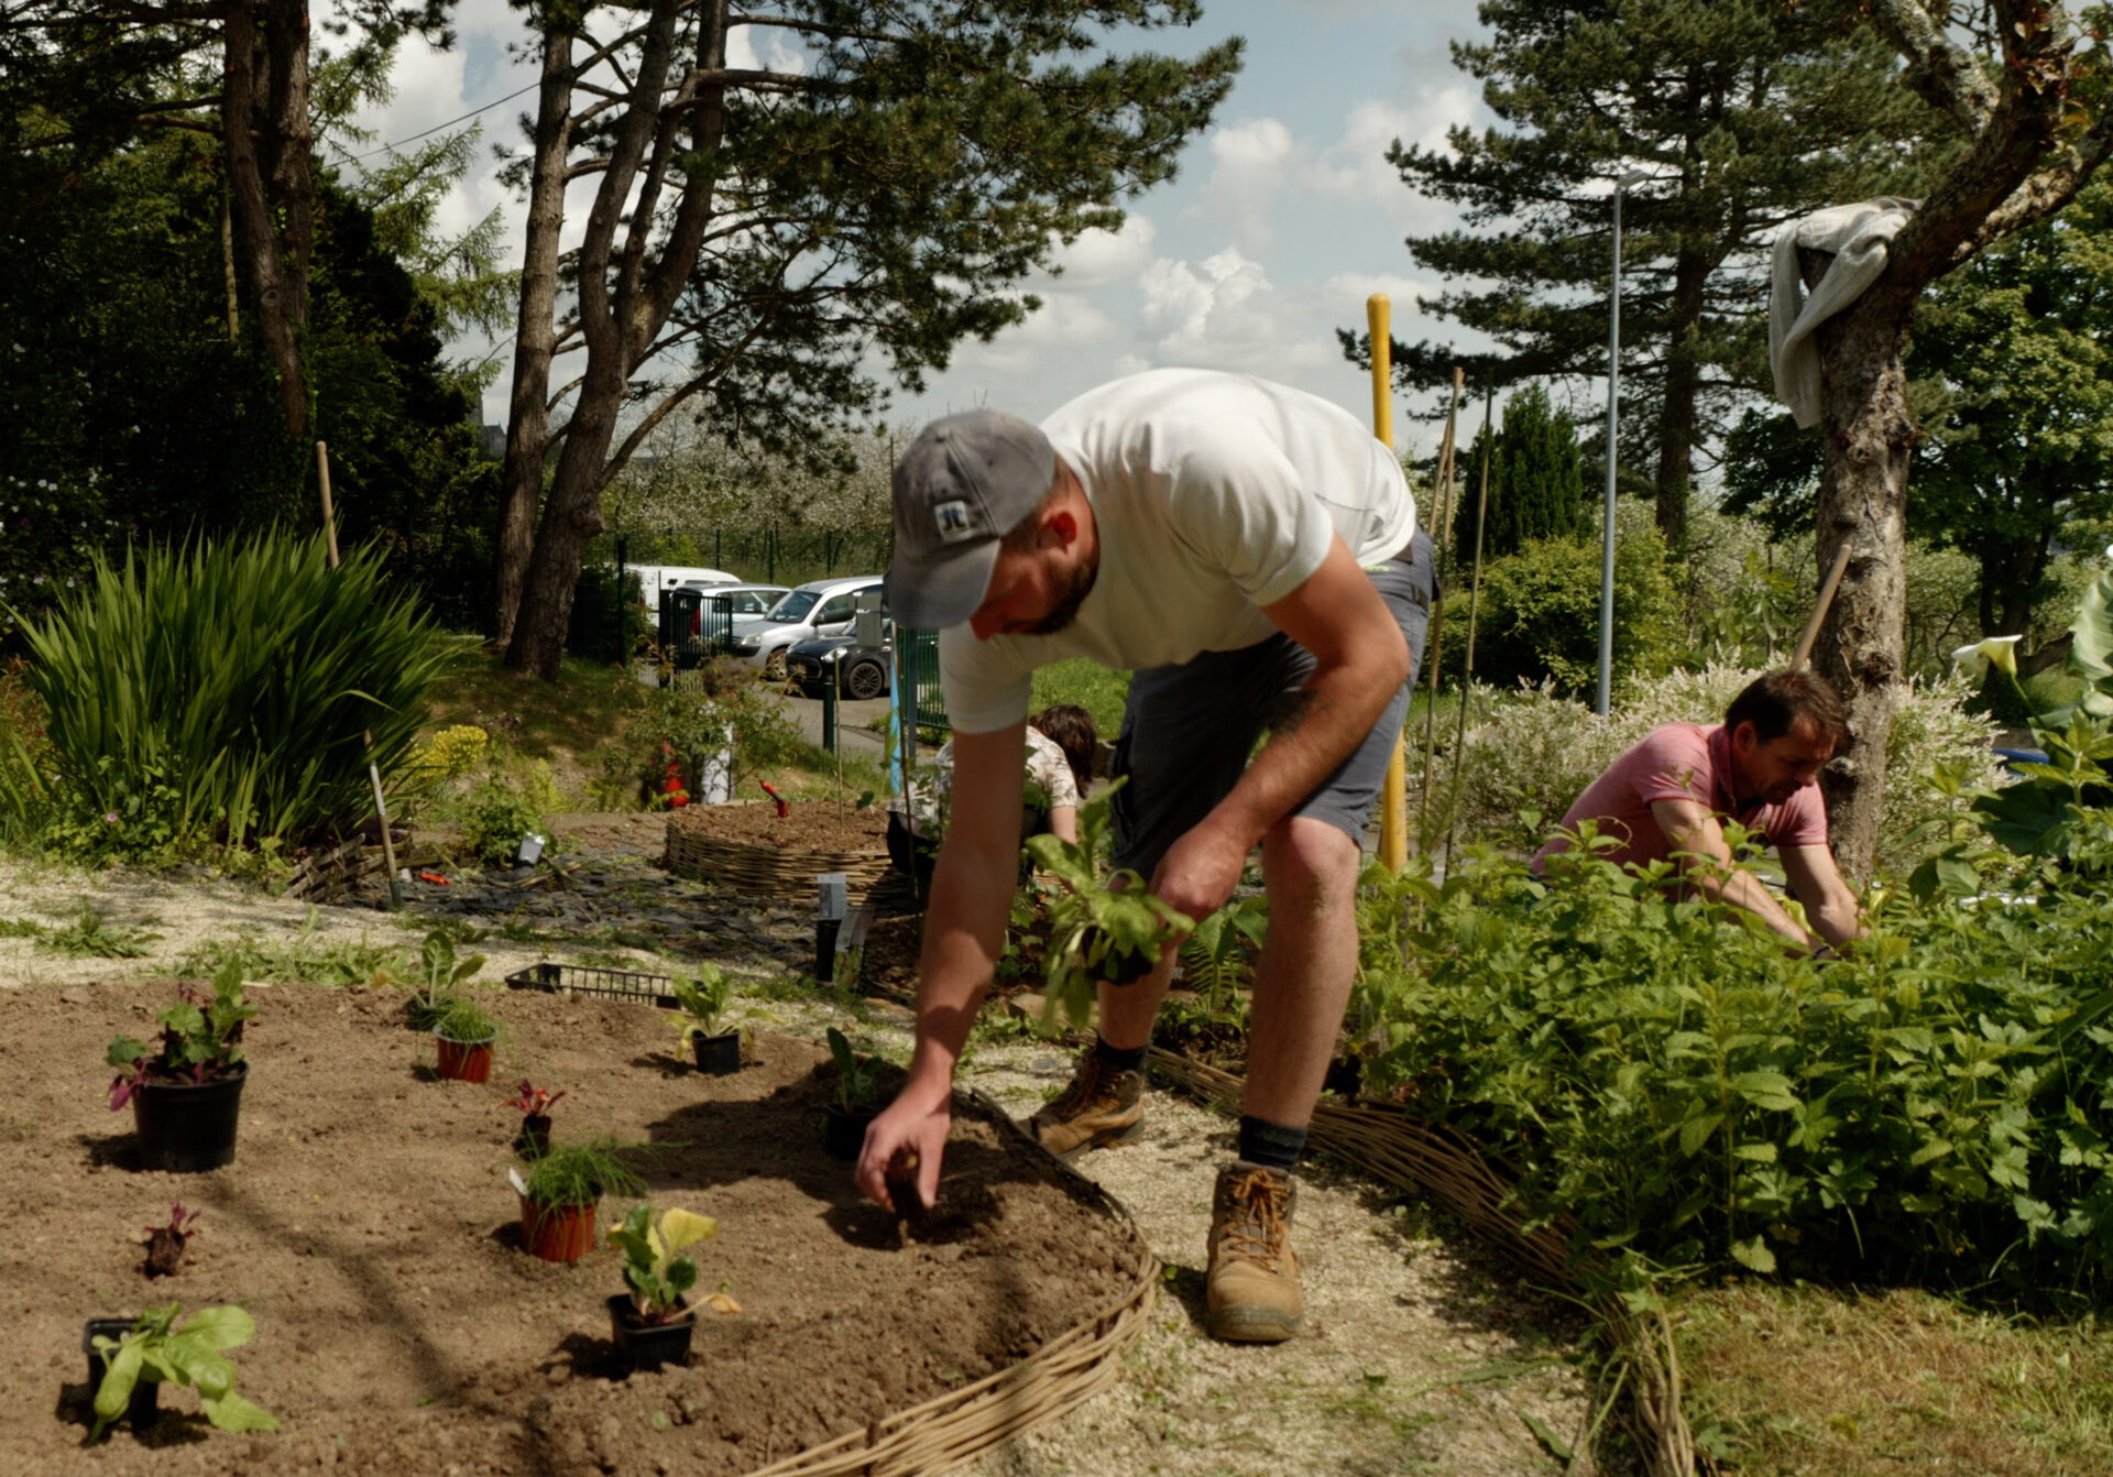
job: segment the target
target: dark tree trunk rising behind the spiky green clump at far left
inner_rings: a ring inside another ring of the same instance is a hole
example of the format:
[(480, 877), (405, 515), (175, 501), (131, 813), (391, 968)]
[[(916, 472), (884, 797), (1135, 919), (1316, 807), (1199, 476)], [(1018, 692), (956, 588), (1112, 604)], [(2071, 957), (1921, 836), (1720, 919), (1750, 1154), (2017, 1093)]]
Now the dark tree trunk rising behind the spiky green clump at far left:
[[(224, 66), (220, 133), (228, 201), (258, 298), (258, 330), (279, 372), (285, 431), (289, 440), (300, 440), (308, 433), (308, 378), (300, 336), (308, 325), (315, 205), (308, 169), (306, 0), (235, 0), (228, 6)], [(283, 249), (275, 216), (285, 220)]]

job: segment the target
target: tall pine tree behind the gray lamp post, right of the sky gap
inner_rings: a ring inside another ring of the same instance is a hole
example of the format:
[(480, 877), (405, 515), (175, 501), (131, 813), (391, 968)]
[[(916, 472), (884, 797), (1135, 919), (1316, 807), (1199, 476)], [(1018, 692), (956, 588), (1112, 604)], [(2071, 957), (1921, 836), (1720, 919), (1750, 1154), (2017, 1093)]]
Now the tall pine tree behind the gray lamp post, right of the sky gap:
[(1762, 243), (1819, 205), (1914, 192), (1900, 146), (1929, 114), (1830, 6), (1485, 0), (1479, 15), (1490, 40), (1456, 42), (1454, 63), (1500, 125), (1388, 158), (1466, 218), (1409, 239), (1420, 266), (1473, 283), (1420, 306), (1502, 353), (1395, 344), (1397, 376), (1604, 376), (1610, 188), (1646, 171), (1623, 209), (1623, 442), (1654, 450), (1659, 528), (1680, 549), (1695, 450), (1741, 391), (1766, 389)]

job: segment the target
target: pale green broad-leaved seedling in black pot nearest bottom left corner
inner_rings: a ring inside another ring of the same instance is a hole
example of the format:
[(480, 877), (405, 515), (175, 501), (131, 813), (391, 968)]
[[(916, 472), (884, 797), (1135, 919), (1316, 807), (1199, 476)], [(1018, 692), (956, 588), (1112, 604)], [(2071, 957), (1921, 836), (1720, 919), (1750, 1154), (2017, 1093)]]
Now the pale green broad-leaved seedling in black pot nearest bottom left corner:
[(220, 1431), (277, 1431), (279, 1420), (235, 1392), (235, 1361), (226, 1350), (256, 1338), (256, 1323), (241, 1308), (201, 1308), (177, 1325), (184, 1304), (148, 1308), (137, 1321), (89, 1319), (80, 1348), (95, 1388), (95, 1428), (89, 1441), (120, 1418), (133, 1431), (150, 1424), (163, 1384), (199, 1392), (199, 1409)]

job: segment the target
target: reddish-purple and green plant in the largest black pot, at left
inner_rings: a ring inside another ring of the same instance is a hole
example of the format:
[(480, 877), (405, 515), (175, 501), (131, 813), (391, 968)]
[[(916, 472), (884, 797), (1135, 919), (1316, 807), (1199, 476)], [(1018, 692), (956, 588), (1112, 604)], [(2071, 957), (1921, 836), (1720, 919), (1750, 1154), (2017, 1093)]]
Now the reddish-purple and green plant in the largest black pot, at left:
[(161, 1046), (129, 1035), (110, 1042), (106, 1061), (118, 1069), (110, 1111), (133, 1107), (133, 1130), (146, 1168), (194, 1173), (235, 1160), (235, 1124), (243, 1105), (243, 1021), (256, 1006), (243, 999), (241, 964), (213, 976), (211, 993), (177, 985), (180, 999), (161, 1012)]

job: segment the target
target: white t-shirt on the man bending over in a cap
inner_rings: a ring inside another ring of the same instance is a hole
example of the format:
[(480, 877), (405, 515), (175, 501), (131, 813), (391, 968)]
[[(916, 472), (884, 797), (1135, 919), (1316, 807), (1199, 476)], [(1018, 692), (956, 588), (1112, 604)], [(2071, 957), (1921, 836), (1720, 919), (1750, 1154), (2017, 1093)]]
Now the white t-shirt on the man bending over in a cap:
[(1312, 579), (1333, 535), (1359, 564), (1416, 532), (1395, 454), (1316, 395), (1217, 370), (1152, 370), (1063, 406), (1042, 431), (1092, 505), (1101, 568), (1054, 636), (940, 632), (947, 716), (993, 733), (1027, 716), (1037, 666), (1122, 672), (1236, 651), (1276, 632), (1261, 606)]

